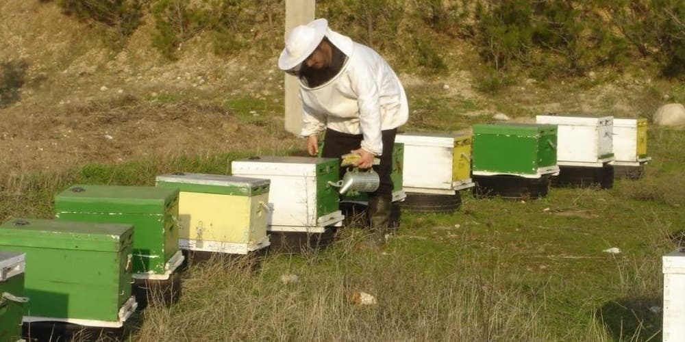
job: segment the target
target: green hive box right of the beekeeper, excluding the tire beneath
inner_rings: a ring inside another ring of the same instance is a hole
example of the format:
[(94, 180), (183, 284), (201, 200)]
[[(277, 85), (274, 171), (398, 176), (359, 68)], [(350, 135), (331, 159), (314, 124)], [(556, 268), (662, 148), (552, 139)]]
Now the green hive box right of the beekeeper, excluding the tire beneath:
[(553, 124), (474, 124), (472, 172), (525, 178), (556, 174), (556, 132)]

